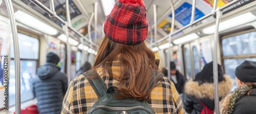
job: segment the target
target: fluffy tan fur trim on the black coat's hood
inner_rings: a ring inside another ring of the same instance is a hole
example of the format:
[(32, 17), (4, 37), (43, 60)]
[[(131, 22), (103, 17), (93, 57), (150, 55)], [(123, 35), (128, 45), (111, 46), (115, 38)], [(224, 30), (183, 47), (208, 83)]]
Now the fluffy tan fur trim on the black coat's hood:
[[(219, 82), (219, 97), (225, 97), (228, 95), (233, 86), (233, 80), (228, 75), (224, 75), (223, 81)], [(188, 80), (185, 83), (185, 94), (193, 96), (197, 99), (210, 99), (214, 100), (214, 83), (202, 83), (198, 81)]]

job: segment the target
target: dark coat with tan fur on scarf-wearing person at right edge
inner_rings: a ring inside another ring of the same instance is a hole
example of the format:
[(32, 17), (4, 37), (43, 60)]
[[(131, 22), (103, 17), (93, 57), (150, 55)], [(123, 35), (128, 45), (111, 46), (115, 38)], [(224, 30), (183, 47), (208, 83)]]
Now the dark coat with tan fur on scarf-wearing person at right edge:
[[(220, 102), (220, 114), (227, 114), (229, 99), (232, 94), (229, 94)], [(232, 114), (255, 114), (256, 113), (256, 86), (254, 86), (250, 94), (245, 94), (235, 104)]]

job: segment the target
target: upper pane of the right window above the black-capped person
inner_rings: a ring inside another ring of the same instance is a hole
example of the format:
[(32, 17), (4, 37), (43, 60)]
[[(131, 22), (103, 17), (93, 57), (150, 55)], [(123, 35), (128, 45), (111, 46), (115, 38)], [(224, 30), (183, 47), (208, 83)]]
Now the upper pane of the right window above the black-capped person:
[(255, 54), (256, 32), (249, 32), (222, 40), (223, 56)]

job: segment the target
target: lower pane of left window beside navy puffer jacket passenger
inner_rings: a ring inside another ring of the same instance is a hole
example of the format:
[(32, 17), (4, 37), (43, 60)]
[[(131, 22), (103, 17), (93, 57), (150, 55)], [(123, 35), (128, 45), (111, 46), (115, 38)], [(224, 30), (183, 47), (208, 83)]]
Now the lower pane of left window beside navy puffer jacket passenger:
[[(30, 83), (36, 74), (36, 61), (20, 60), (20, 101), (26, 102), (34, 98)], [(9, 106), (15, 105), (15, 66), (14, 60), (10, 61), (9, 75)]]

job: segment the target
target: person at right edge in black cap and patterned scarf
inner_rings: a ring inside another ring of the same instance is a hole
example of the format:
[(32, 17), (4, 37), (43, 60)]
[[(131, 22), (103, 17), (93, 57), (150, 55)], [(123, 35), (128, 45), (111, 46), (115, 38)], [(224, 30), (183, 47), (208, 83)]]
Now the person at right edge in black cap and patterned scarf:
[(220, 113), (256, 113), (256, 62), (245, 61), (236, 69), (239, 87), (220, 102)]

